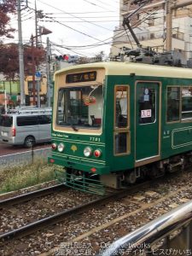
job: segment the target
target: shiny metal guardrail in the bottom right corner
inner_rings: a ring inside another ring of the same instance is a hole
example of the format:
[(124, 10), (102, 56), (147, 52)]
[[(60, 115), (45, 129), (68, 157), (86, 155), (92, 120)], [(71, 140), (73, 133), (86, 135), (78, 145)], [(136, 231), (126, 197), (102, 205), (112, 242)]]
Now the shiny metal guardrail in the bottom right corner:
[(192, 201), (114, 241), (97, 255), (192, 255)]

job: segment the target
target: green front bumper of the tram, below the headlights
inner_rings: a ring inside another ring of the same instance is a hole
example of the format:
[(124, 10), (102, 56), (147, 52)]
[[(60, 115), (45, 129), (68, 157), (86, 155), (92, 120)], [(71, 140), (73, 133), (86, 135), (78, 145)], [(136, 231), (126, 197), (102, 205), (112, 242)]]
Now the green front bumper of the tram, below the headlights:
[(61, 159), (61, 157), (52, 156), (48, 158), (49, 163), (63, 166), (67, 168), (73, 168), (75, 170), (92, 172), (95, 174), (108, 174), (110, 173), (109, 166), (105, 166), (104, 163), (95, 162), (93, 160), (73, 160), (70, 157), (67, 159)]

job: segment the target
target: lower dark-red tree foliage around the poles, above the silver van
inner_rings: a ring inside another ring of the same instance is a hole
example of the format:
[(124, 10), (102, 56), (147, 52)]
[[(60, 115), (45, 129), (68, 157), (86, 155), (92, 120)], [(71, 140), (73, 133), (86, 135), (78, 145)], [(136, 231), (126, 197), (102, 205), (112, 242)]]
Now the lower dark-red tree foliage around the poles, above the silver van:
[[(45, 51), (42, 48), (33, 48), (24, 45), (24, 67), (25, 74), (32, 74), (32, 50), (36, 66), (45, 60)], [(0, 44), (0, 71), (5, 79), (18, 79), (19, 74), (19, 54), (17, 44)]]

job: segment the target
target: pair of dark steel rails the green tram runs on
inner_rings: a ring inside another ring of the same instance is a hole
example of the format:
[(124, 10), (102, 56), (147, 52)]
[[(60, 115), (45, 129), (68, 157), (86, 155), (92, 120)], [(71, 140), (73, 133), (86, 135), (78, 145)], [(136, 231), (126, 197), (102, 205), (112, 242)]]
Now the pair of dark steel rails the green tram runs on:
[[(85, 204), (81, 204), (78, 207), (73, 207), (72, 209), (68, 209), (59, 213), (55, 213), (54, 215), (51, 215), (47, 218), (39, 219), (38, 221), (35, 221), (31, 224), (26, 224), (18, 229), (10, 230), (8, 232), (5, 232), (0, 235), (0, 242), (1, 241), (8, 241), (9, 239), (17, 239), (23, 236), (30, 235), (38, 230), (42, 230), (46, 227), (49, 227), (51, 225), (60, 223), (61, 221), (72, 217), (74, 214), (80, 214), (86, 211), (89, 211), (91, 208), (100, 207), (102, 205), (107, 204), (110, 201), (117, 201), (122, 197), (125, 197), (128, 195), (128, 193), (134, 193), (139, 191), (139, 189), (143, 188), (143, 186), (148, 185), (150, 182), (141, 183), (134, 187), (130, 187), (129, 189), (122, 189), (116, 193), (110, 193), (109, 195), (103, 196), (102, 198), (99, 198), (94, 201), (90, 201)], [(31, 200), (32, 198), (41, 196), (41, 193), (44, 193), (44, 195), (47, 195), (48, 193), (51, 193), (51, 189), (53, 190), (55, 186), (49, 189), (40, 189), (35, 192), (27, 193), (26, 195), (20, 195), (16, 196), (15, 198), (11, 198), (5, 201), (0, 202), (0, 206), (8, 206), (13, 205), (15, 203), (20, 203), (23, 201)], [(56, 187), (56, 189), (61, 189), (61, 186)], [(46, 194), (47, 193), (47, 194)], [(28, 195), (29, 194), (29, 195)], [(27, 197), (27, 195), (29, 197)], [(2, 204), (1, 204), (2, 203)]]

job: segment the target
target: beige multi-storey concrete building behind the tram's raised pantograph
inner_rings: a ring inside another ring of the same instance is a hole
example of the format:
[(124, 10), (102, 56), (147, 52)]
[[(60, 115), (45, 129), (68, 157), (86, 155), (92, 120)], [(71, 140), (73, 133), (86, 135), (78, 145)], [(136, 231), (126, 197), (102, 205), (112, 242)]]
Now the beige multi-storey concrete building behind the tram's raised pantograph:
[[(124, 18), (139, 8), (139, 5), (133, 2), (141, 4), (143, 1), (120, 0), (120, 22), (113, 33), (111, 56), (123, 54), (125, 48), (137, 48), (127, 26), (123, 26)], [(183, 62), (186, 63), (189, 58), (192, 58), (192, 5), (173, 9), (174, 4), (180, 4), (183, 1), (150, 1), (131, 16), (130, 25), (142, 47), (149, 46), (157, 52), (166, 51), (167, 3), (172, 3), (172, 50), (181, 52)]]

